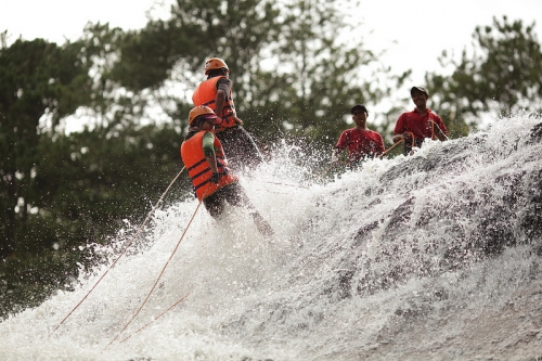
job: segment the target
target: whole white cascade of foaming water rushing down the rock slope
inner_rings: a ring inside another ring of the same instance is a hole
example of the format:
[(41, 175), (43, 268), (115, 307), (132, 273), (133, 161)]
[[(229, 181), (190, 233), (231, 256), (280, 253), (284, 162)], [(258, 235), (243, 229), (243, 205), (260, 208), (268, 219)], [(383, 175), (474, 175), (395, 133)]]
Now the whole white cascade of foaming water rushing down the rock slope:
[[(526, 225), (542, 217), (540, 121), (499, 119), (320, 184), (285, 146), (242, 179), (273, 243), (244, 210), (216, 223), (199, 209), (107, 347), (197, 203), (158, 210), (146, 247), (56, 332), (106, 266), (0, 323), (0, 360), (540, 360), (542, 240)], [(511, 246), (485, 252), (491, 240)]]

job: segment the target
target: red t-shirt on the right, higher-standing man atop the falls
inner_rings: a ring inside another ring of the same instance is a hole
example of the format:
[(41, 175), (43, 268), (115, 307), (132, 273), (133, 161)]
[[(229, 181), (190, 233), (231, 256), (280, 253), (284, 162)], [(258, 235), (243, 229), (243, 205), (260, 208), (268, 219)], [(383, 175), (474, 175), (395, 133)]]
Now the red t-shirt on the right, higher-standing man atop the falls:
[[(425, 115), (420, 114), (416, 108), (412, 112), (401, 114), (399, 119), (397, 119), (393, 134), (402, 134), (405, 131), (410, 131), (414, 134), (415, 139), (423, 140), (424, 138), (431, 138), (434, 130), (429, 119), (435, 121), (435, 125), (439, 126), (442, 132), (448, 137), (448, 129), (446, 128), (444, 123), (429, 108), (427, 108), (427, 113), (425, 113)], [(438, 130), (435, 129), (435, 133), (437, 132)]]

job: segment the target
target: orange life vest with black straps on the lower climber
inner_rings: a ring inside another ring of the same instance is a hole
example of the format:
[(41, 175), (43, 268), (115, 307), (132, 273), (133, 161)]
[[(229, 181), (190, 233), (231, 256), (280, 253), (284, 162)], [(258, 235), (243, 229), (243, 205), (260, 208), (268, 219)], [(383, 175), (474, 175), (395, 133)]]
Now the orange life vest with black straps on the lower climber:
[(217, 184), (210, 182), (212, 170), (205, 158), (203, 152), (203, 138), (207, 131), (197, 132), (194, 137), (181, 144), (181, 158), (186, 167), (194, 192), (199, 201), (208, 197), (219, 189), (237, 181), (237, 177), (232, 176), (228, 169), (228, 162), (224, 156), (222, 144), (215, 137), (215, 156), (217, 158), (218, 172), (221, 175)]

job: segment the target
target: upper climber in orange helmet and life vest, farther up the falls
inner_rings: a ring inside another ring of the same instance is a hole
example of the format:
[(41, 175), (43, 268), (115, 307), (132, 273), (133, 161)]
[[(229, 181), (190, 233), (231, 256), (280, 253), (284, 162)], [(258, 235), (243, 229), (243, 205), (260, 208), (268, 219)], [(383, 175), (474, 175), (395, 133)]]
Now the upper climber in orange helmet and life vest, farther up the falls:
[(216, 136), (225, 150), (232, 169), (242, 170), (244, 166), (255, 168), (263, 162), (263, 157), (235, 112), (228, 65), (221, 59), (211, 57), (205, 63), (205, 75), (207, 80), (199, 83), (192, 95), (194, 105), (206, 105), (221, 118)]

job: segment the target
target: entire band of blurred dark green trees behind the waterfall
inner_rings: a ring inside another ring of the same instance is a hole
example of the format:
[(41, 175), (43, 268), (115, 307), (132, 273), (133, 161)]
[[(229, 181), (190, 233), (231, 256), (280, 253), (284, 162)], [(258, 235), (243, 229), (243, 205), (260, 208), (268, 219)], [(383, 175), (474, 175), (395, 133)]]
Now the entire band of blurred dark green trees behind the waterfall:
[[(409, 70), (388, 77), (334, 2), (206, 4), (178, 1), (169, 20), (137, 31), (89, 24), (73, 43), (17, 40), (0, 49), (0, 314), (69, 288), (100, 261), (92, 245), (146, 216), (182, 167), (190, 94), (207, 57), (227, 60), (240, 117), (263, 149), (287, 138), (328, 154), (350, 127), (351, 105), (390, 92), (375, 78), (409, 80)], [(495, 20), (476, 29), (474, 52), (459, 62), (443, 54), (452, 75), (427, 75), (431, 107), (452, 138), (492, 104), (503, 114), (540, 111), (532, 29)], [(402, 111), (387, 113), (383, 136)], [(83, 126), (66, 133), (66, 118)], [(190, 196), (186, 178), (179, 186), (168, 202)]]

